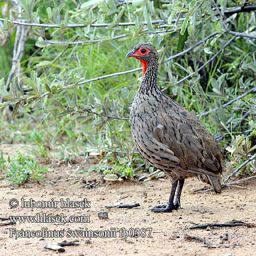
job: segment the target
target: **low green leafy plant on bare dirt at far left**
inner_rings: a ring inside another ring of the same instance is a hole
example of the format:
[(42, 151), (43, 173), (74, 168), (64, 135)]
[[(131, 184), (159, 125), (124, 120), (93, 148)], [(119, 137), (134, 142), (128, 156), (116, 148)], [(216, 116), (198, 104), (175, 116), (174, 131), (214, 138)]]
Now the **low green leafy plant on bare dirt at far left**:
[(25, 157), (21, 153), (12, 158), (8, 157), (6, 166), (6, 179), (17, 185), (23, 185), (28, 180), (44, 180), (44, 173), (48, 171), (47, 167), (38, 165), (35, 159)]

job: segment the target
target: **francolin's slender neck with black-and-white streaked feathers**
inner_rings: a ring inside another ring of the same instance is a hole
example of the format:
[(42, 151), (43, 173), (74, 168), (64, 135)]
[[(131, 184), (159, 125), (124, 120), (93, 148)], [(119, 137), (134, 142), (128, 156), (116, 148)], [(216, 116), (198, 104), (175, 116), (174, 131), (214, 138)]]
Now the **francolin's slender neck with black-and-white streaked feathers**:
[(160, 91), (157, 84), (158, 58), (151, 59), (147, 63), (146, 71), (140, 83), (139, 92), (147, 93), (150, 91)]

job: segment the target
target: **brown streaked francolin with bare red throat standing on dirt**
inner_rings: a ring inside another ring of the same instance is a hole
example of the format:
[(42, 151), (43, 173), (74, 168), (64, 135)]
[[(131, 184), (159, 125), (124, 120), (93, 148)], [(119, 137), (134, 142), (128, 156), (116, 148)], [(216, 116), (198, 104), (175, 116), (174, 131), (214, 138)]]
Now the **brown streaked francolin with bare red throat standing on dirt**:
[(162, 170), (172, 182), (167, 205), (156, 205), (151, 210), (178, 209), (184, 180), (189, 177), (197, 176), (221, 193), (221, 147), (194, 115), (159, 89), (156, 49), (141, 43), (126, 57), (139, 59), (143, 71), (130, 112), (134, 144), (140, 156)]

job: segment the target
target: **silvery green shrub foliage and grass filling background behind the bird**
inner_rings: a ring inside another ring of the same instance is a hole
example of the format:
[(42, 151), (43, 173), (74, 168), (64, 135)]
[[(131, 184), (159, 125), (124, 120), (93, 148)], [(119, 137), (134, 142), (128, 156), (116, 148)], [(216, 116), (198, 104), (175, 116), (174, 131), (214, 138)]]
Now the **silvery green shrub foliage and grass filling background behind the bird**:
[[(132, 161), (133, 146), (126, 119), (141, 72), (79, 82), (140, 67), (136, 60), (124, 59), (139, 41), (153, 44), (162, 63), (218, 32), (204, 44), (160, 65), (161, 89), (167, 88), (165, 93), (194, 114), (219, 107), (256, 86), (256, 41), (252, 38), (237, 37), (197, 72), (232, 37), (227, 30), (255, 35), (255, 12), (228, 14), (241, 7), (241, 1), (19, 2), (23, 8), (19, 20), (49, 25), (31, 27), (20, 63), (22, 79), (14, 77), (7, 92), (5, 82), (17, 28), (12, 22), (16, 7), (9, 3), (7, 12), (0, 11), (0, 17), (5, 18), (0, 33), (9, 37), (9, 43), (0, 48), (4, 56), (0, 60), (0, 95), (4, 98), (0, 107), (16, 105), (17, 114), (36, 123), (36, 129), (28, 124), (24, 137), (15, 137), (19, 141), (29, 138), (31, 143), (60, 147), (69, 154), (95, 151), (103, 158), (113, 156), (107, 149), (118, 150), (125, 152), (127, 161)], [(3, 5), (0, 2), (0, 7)], [(120, 26), (120, 23), (131, 25)], [(8, 65), (3, 61), (6, 58)], [(193, 76), (177, 84), (193, 72)], [(255, 141), (255, 104), (255, 97), (249, 94), (201, 120), (213, 134), (224, 135), (223, 146), (230, 145), (233, 132)], [(247, 112), (246, 120), (241, 122)], [(15, 120), (14, 130), (19, 130), (23, 123)], [(239, 126), (233, 131), (237, 123)], [(6, 133), (1, 133), (0, 140), (6, 138)], [(118, 160), (115, 156), (114, 159)]]

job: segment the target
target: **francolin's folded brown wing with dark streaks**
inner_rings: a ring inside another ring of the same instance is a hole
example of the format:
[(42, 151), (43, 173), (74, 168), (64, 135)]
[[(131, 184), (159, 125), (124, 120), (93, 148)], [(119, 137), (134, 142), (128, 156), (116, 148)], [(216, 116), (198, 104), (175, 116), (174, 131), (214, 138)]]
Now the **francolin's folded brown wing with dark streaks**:
[(151, 119), (153, 137), (179, 158), (176, 168), (201, 175), (220, 175), (224, 160), (215, 138), (176, 102), (161, 105)]

